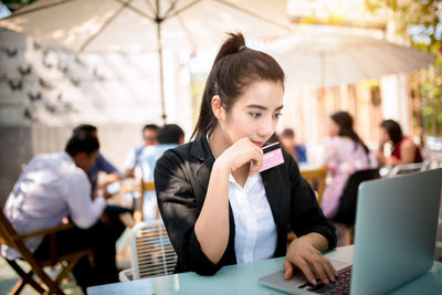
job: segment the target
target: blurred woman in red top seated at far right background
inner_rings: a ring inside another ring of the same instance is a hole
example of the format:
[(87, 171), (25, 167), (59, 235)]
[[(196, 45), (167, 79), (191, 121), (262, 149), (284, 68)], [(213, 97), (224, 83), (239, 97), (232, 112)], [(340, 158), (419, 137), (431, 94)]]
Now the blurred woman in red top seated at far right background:
[[(381, 144), (378, 152), (380, 165), (400, 165), (421, 162), (422, 154), (420, 148), (410, 138), (403, 136), (402, 129), (396, 120), (386, 119), (380, 124)], [(392, 144), (391, 157), (383, 156), (383, 145)]]

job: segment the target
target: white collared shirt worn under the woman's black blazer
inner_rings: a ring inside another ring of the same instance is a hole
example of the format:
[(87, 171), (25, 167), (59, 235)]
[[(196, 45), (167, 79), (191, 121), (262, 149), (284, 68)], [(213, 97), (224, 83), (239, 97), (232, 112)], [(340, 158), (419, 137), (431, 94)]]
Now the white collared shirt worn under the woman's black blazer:
[(273, 257), (276, 225), (261, 175), (249, 177), (243, 188), (230, 175), (229, 202), (235, 223), (236, 262), (241, 264)]

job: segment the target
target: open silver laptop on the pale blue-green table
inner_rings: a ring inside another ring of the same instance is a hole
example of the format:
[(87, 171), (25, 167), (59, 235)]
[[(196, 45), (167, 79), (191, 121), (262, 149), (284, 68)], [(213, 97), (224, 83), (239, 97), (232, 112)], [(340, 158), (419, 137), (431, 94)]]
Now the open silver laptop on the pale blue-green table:
[[(330, 260), (337, 283), (313, 286), (301, 272), (288, 281), (277, 272), (259, 278), (260, 284), (291, 294), (372, 295), (424, 274), (433, 265), (441, 186), (442, 169), (362, 182), (352, 264)], [(336, 259), (333, 253), (326, 257)]]

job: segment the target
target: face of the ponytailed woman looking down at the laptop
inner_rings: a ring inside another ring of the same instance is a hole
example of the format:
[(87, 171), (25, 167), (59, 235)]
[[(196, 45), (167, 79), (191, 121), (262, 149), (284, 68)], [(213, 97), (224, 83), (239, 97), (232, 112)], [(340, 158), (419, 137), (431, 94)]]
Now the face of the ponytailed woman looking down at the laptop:
[(283, 96), (281, 82), (260, 81), (250, 85), (230, 112), (219, 117), (219, 125), (229, 144), (248, 137), (262, 147), (276, 129)]

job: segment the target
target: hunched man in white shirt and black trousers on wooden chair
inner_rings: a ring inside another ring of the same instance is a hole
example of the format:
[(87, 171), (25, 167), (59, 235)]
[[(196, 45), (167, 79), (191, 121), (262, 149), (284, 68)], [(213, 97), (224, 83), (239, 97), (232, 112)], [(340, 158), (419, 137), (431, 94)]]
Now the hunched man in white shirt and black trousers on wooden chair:
[[(98, 156), (96, 137), (74, 135), (60, 154), (35, 156), (21, 173), (4, 206), (4, 213), (18, 233), (48, 229), (62, 223), (69, 217), (75, 228), (56, 236), (59, 254), (72, 250), (92, 247), (92, 267), (84, 257), (73, 273), (78, 285), (117, 282), (115, 267), (115, 230), (99, 222), (106, 206), (103, 196), (91, 200), (91, 183), (85, 171), (91, 169)], [(44, 260), (50, 254), (48, 236), (31, 238), (27, 246), (35, 259)], [(6, 245), (1, 255), (17, 259), (19, 253)]]

